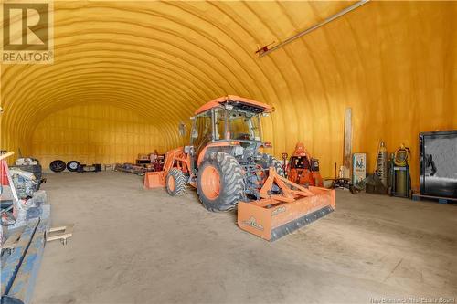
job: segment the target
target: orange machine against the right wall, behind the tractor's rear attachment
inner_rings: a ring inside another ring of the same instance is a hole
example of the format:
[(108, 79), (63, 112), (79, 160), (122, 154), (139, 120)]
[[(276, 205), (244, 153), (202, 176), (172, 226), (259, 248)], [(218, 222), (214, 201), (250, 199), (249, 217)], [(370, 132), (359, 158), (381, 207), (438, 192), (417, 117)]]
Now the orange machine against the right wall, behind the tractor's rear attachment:
[[(285, 158), (287, 159), (287, 156)], [(302, 142), (296, 144), (295, 151), (287, 164), (286, 173), (287, 178), (293, 183), (318, 187), (324, 185), (319, 172), (319, 161), (311, 157)]]

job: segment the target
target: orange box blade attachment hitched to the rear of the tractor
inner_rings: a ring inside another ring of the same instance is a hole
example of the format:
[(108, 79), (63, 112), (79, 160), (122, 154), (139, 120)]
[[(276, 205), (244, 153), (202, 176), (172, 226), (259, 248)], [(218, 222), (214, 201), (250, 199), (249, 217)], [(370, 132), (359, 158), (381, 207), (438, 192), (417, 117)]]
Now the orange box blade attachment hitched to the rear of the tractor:
[(335, 210), (335, 190), (305, 188), (273, 168), (260, 190), (261, 199), (238, 204), (241, 229), (274, 241)]

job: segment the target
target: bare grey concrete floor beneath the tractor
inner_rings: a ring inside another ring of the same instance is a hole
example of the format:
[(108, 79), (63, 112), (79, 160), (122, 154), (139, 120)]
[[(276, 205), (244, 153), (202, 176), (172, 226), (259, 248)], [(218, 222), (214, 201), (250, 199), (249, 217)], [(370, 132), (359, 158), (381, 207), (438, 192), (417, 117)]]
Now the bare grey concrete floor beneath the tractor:
[[(337, 192), (336, 211), (268, 243), (195, 191), (129, 173), (50, 173), (54, 225), (34, 303), (373, 303), (456, 297), (457, 206)], [(373, 300), (372, 300), (373, 299)], [(454, 299), (455, 302), (455, 299)]]

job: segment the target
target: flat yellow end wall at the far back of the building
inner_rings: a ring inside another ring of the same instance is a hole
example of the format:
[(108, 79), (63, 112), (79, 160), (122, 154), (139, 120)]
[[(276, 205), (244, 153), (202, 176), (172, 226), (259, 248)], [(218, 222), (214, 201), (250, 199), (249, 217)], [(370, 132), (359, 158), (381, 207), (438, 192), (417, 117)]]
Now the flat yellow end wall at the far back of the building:
[(165, 152), (158, 129), (131, 110), (80, 105), (50, 114), (37, 125), (32, 154), (50, 162), (135, 162), (138, 153)]

